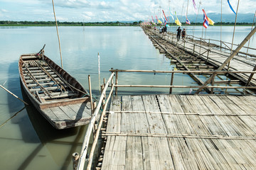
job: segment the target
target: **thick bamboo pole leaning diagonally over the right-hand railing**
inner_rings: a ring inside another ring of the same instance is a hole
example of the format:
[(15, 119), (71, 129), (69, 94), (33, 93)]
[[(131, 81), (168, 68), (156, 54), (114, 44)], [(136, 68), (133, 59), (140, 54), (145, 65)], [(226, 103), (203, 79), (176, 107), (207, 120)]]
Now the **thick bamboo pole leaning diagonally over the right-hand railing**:
[[(235, 49), (235, 51), (230, 55), (230, 57), (228, 57), (225, 62), (223, 62), (223, 64), (218, 67), (218, 69), (216, 71), (220, 71), (222, 70), (227, 64), (228, 62), (230, 62), (230, 60), (233, 59), (233, 57), (235, 57), (235, 55), (239, 52), (239, 50), (241, 50), (241, 48), (245, 45), (245, 43), (250, 40), (250, 38), (252, 37), (252, 35), (254, 35), (256, 32), (256, 27), (247, 35), (247, 37), (245, 38), (245, 40), (243, 40), (241, 42), (241, 44)], [(207, 84), (211, 81), (211, 79), (213, 79), (214, 77), (214, 74), (208, 79), (206, 80), (206, 82), (203, 84), (203, 86), (201, 86), (201, 88), (199, 88), (197, 91), (196, 91), (196, 94), (198, 94), (205, 86), (207, 86)]]

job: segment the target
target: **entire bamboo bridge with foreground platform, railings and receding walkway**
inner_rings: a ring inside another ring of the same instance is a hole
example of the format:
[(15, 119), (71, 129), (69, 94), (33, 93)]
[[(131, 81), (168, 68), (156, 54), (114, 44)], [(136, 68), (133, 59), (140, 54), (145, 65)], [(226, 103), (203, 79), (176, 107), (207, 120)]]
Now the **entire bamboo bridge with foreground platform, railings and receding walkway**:
[[(240, 51), (256, 28), (235, 50), (196, 38), (178, 41), (173, 34), (144, 31), (179, 70), (110, 69), (112, 74), (102, 85), (102, 96), (93, 112), (80, 156), (74, 154), (74, 169), (84, 169), (85, 165), (87, 170), (256, 169), (256, 62), (251, 59), (254, 55)], [(129, 72), (171, 74), (171, 83), (131, 85), (118, 81), (120, 73)], [(177, 73), (189, 74), (198, 85), (175, 86)], [(198, 74), (208, 74), (210, 78), (202, 81)], [(219, 74), (233, 79), (215, 81)], [(122, 87), (168, 91), (117, 96)], [(195, 90), (193, 94), (172, 94), (174, 88)], [(220, 95), (216, 89), (242, 91)], [(204, 94), (200, 93), (202, 90)], [(98, 114), (100, 119), (96, 121)], [(100, 154), (95, 155), (95, 148), (100, 148)]]

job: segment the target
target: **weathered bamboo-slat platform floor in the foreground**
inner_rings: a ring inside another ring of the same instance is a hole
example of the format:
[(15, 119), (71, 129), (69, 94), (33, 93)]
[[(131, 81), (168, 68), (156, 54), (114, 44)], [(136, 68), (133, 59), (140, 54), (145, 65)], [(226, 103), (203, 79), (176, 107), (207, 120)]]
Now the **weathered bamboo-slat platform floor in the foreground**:
[(105, 169), (256, 169), (256, 96), (117, 96)]

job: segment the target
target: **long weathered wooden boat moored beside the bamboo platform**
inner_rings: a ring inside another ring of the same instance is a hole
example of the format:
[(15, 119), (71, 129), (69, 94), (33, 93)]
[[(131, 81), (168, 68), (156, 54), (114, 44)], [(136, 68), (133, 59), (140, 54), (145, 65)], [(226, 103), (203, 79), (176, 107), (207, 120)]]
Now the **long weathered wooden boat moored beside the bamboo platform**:
[(91, 107), (87, 91), (43, 52), (21, 55), (18, 71), (28, 98), (55, 128), (89, 123)]

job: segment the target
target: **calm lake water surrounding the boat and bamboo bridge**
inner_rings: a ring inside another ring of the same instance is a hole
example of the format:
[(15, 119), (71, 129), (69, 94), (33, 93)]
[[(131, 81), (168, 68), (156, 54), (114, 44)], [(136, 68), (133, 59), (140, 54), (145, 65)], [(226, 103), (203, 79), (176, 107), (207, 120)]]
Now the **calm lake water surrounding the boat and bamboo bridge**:
[[(169, 28), (172, 29), (172, 28)], [(176, 29), (176, 28), (173, 28)], [(219, 27), (210, 27), (206, 38), (218, 39)], [(188, 33), (192, 27), (188, 28)], [(236, 43), (250, 32), (238, 27)], [(233, 27), (223, 28), (223, 40), (230, 41)], [(159, 54), (139, 27), (59, 27), (63, 68), (88, 89), (87, 76), (92, 79), (92, 93), (99, 97), (97, 53), (100, 52), (100, 81), (110, 77), (114, 69), (172, 70), (175, 65)], [(201, 27), (195, 36), (201, 37)], [(17, 96), (22, 95), (18, 77), (18, 57), (41, 50), (60, 65), (58, 37), (55, 27), (0, 27), (0, 84)], [(250, 47), (255, 47), (255, 40)], [(119, 73), (119, 84), (169, 85), (170, 74)], [(176, 74), (174, 85), (194, 85), (187, 75)], [(174, 89), (188, 93), (190, 89)], [(168, 93), (169, 89), (119, 89), (119, 94)], [(0, 89), (0, 125), (20, 111), (24, 104)], [(80, 152), (86, 127), (55, 130), (33, 106), (24, 108), (0, 128), (0, 169), (72, 169), (71, 155)]]

